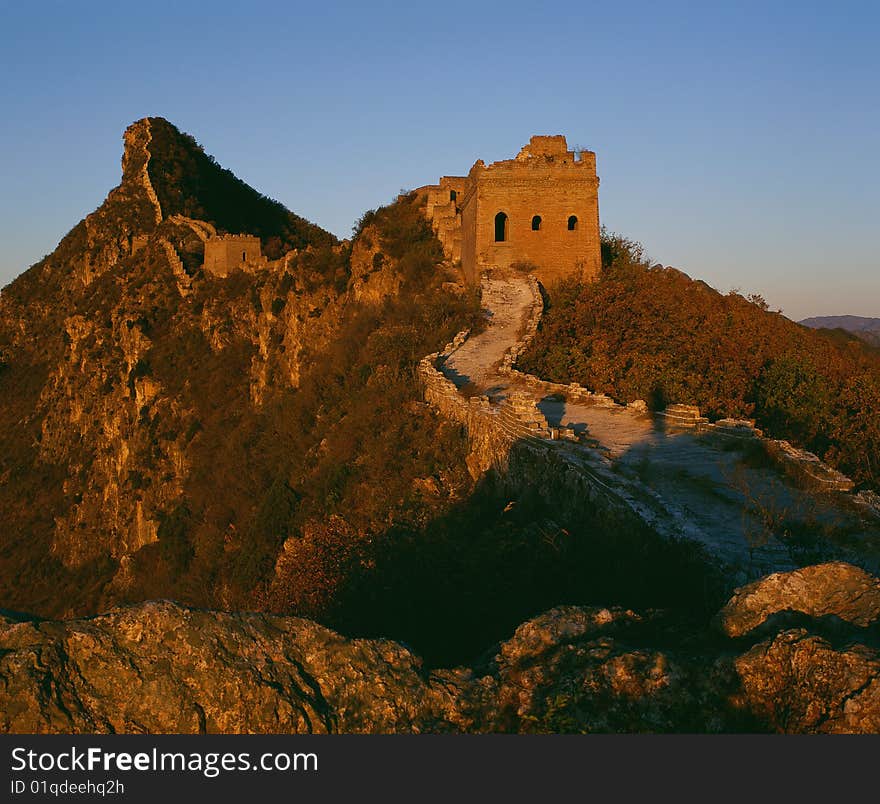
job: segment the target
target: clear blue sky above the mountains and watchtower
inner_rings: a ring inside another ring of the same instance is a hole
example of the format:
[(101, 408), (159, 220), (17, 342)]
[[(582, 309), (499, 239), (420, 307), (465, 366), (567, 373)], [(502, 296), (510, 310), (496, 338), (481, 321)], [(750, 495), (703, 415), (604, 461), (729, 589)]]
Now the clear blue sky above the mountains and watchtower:
[(655, 260), (796, 319), (880, 316), (875, 2), (0, 0), (0, 25), (0, 285), (159, 115), (340, 237), (565, 134)]

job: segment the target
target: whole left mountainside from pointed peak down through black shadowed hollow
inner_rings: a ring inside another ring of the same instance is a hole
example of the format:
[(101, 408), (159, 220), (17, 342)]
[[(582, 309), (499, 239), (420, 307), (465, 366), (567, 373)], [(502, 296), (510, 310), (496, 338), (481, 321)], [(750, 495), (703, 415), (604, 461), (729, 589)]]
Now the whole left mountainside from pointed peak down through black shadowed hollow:
[[(211, 188), (250, 191), (175, 131), (131, 126), (120, 186), (0, 296), (0, 607), (171, 598), (453, 662), (559, 603), (719, 605), (692, 545), (471, 477), (416, 366), (482, 319), (417, 194), (217, 278)], [(251, 198), (247, 231), (293, 237)]]

